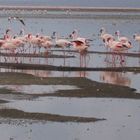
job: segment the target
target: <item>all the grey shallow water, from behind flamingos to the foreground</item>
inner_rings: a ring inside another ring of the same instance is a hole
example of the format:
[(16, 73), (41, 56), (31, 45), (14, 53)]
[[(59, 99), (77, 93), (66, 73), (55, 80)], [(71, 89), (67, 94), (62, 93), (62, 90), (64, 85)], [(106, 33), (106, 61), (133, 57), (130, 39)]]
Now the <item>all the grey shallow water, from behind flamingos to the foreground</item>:
[[(99, 38), (99, 30), (105, 27), (107, 31), (114, 34), (116, 30), (120, 30), (122, 35), (128, 36), (133, 44), (133, 48), (129, 52), (136, 53), (139, 51), (139, 43), (133, 39), (134, 33), (139, 33), (140, 19), (119, 19), (119, 18), (89, 18), (89, 19), (66, 19), (66, 18), (26, 18), (24, 17), (26, 26), (23, 27), (18, 21), (8, 22), (7, 18), (0, 18), (0, 35), (5, 33), (7, 28), (12, 29), (12, 34), (19, 33), (21, 28), (25, 28), (26, 33), (51, 35), (56, 31), (61, 36), (68, 36), (74, 29), (79, 30), (80, 36), (93, 39), (90, 51), (106, 51), (102, 40)], [(54, 54), (63, 54), (54, 51)], [(74, 58), (56, 59), (56, 58), (18, 58), (24, 63), (50, 64), (56, 66), (81, 66), (81, 67), (118, 67), (118, 66), (140, 66), (140, 59), (137, 57), (126, 57), (125, 62), (120, 64), (119, 58), (112, 61), (112, 55), (87, 54), (81, 65), (79, 54), (73, 53)], [(84, 59), (84, 58), (83, 58)], [(1, 57), (4, 62), (4, 58)], [(14, 62), (14, 59), (10, 59)], [(22, 72), (29, 73), (38, 77), (87, 77), (91, 80), (106, 82), (112, 84), (120, 84), (136, 88), (140, 92), (139, 73), (120, 73), (120, 72), (58, 72), (58, 71), (39, 71), (39, 70), (16, 70), (0, 68), (1, 72)], [(7, 85), (6, 85), (7, 86)], [(15, 85), (16, 87), (17, 85)], [(9, 87), (9, 86), (8, 86)], [(13, 87), (10, 87), (10, 89)], [(77, 87), (65, 86), (64, 89), (75, 89)], [(57, 86), (18, 86), (17, 90), (22, 92), (44, 93), (44, 91), (55, 92), (63, 89), (61, 85)], [(14, 88), (15, 90), (15, 88)], [(9, 99), (10, 100), (10, 99)], [(139, 140), (140, 137), (140, 102), (139, 100), (128, 99), (112, 99), (112, 98), (58, 98), (58, 97), (40, 97), (35, 100), (13, 100), (10, 103), (0, 104), (0, 108), (15, 108), (27, 112), (53, 113), (61, 115), (78, 115), (86, 117), (106, 118), (105, 121), (96, 123), (56, 123), (56, 122), (36, 122), (36, 123), (16, 123), (1, 122), (0, 136), (2, 139), (14, 140)], [(15, 121), (15, 120), (14, 120)]]

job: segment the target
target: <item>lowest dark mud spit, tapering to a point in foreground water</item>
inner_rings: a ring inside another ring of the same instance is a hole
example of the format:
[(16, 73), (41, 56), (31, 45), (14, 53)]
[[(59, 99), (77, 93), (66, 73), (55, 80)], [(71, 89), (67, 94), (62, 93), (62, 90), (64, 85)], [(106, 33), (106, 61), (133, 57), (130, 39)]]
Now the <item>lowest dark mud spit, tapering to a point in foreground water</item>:
[(45, 120), (54, 122), (95, 122), (105, 119), (78, 116), (62, 116), (48, 113), (28, 113), (17, 109), (1, 109), (0, 116), (13, 119)]

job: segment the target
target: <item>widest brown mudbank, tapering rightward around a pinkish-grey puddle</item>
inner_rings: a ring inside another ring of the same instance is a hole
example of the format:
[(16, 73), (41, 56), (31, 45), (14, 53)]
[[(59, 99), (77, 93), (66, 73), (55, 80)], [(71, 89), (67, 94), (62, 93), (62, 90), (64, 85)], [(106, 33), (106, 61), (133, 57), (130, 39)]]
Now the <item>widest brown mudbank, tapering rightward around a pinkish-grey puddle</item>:
[[(57, 97), (111, 97), (111, 98), (132, 98), (140, 99), (140, 94), (136, 90), (126, 86), (119, 86), (107, 83), (100, 83), (84, 77), (35, 77), (30, 74), (22, 73), (1, 73), (1, 85), (74, 85), (79, 89), (58, 90), (55, 93), (43, 93), (30, 95), (37, 96), (57, 96)], [(8, 89), (0, 89), (0, 94), (16, 94)], [(20, 94), (21, 95), (21, 94)], [(24, 95), (25, 96), (25, 95)]]

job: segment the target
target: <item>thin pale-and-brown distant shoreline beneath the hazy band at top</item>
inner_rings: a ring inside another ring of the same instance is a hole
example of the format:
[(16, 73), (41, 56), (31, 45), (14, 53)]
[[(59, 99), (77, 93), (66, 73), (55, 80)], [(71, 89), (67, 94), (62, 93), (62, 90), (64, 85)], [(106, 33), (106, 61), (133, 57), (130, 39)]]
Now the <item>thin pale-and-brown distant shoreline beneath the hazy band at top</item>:
[(140, 8), (132, 7), (71, 7), (71, 6), (8, 6), (0, 5), (0, 10), (48, 10), (48, 11), (80, 11), (80, 12), (140, 12)]

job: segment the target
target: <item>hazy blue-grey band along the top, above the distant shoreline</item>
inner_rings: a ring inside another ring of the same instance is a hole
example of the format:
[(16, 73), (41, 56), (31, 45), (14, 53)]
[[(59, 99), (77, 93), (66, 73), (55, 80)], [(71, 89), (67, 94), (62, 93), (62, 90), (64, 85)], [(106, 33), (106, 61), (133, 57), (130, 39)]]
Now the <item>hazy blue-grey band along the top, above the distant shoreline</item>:
[(140, 0), (0, 0), (0, 5), (140, 7)]

